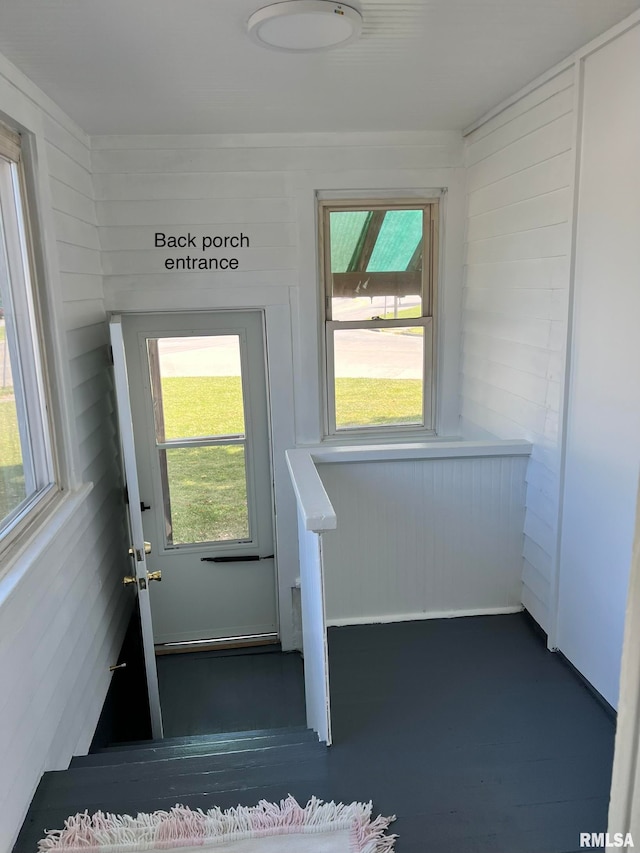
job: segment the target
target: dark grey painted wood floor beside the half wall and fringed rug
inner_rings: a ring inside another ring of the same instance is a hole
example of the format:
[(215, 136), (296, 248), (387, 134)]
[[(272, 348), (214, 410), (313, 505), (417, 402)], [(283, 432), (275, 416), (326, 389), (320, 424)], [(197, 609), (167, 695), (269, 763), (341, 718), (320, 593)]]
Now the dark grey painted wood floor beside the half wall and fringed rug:
[[(238, 771), (242, 785), (220, 793), (203, 791), (174, 771), (171, 784), (150, 771), (135, 795), (136, 786), (126, 793), (110, 770), (112, 787), (101, 794), (103, 783), (92, 781), (91, 802), (136, 812), (173, 805), (177, 791), (192, 807), (250, 804), (289, 792), (301, 801), (312, 795), (371, 799), (377, 813), (397, 815), (397, 853), (575, 853), (580, 832), (606, 829), (614, 722), (546, 651), (525, 615), (334, 628), (329, 647), (334, 745), (326, 753), (307, 758), (306, 748), (296, 746), (305, 757), (295, 769), (281, 764), (272, 777), (264, 767), (247, 767)], [(276, 704), (283, 695), (298, 697), (299, 714), (299, 666), (281, 667), (274, 686), (267, 679), (259, 688), (239, 687), (245, 676), (255, 678), (258, 657), (264, 664), (270, 655), (256, 656), (255, 666), (243, 660), (247, 656), (229, 656), (216, 676), (218, 691), (244, 695), (252, 725), (263, 727), (259, 709), (274, 693)], [(295, 660), (275, 655), (272, 664), (278, 657)], [(196, 677), (204, 689), (202, 675)], [(175, 689), (184, 697), (182, 679)], [(193, 688), (191, 699), (196, 693)], [(184, 698), (175, 702), (177, 708), (187, 704)], [(208, 707), (213, 715), (215, 703)], [(225, 719), (230, 713), (226, 707)], [(237, 710), (239, 717), (244, 713)], [(219, 726), (213, 716), (210, 726)], [(94, 760), (99, 756), (84, 759)], [(42, 815), (47, 797), (63, 805), (55, 793), (58, 780), (49, 790), (54, 794), (43, 786)], [(78, 810), (71, 800), (69, 806), (67, 813)], [(32, 814), (29, 837), (37, 820)]]

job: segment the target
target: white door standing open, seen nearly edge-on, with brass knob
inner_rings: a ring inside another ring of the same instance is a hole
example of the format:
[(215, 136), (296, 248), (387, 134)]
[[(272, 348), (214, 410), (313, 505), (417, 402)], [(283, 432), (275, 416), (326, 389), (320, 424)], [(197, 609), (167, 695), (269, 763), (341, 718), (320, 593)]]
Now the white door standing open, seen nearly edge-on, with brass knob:
[(149, 711), (151, 715), (151, 733), (154, 738), (162, 737), (162, 714), (160, 711), (160, 694), (158, 691), (158, 672), (153, 644), (153, 626), (151, 624), (151, 607), (149, 602), (149, 573), (146, 564), (146, 547), (142, 530), (142, 513), (140, 512), (140, 492), (136, 471), (136, 449), (129, 405), (129, 383), (127, 365), (122, 339), (122, 324), (120, 317), (114, 317), (109, 324), (111, 333), (111, 350), (113, 352), (113, 370), (118, 407), (118, 425), (120, 427), (120, 443), (122, 449), (122, 465), (125, 486), (128, 495), (129, 534), (131, 538), (130, 575), (125, 576), (125, 583), (137, 592), (144, 665), (149, 694)]

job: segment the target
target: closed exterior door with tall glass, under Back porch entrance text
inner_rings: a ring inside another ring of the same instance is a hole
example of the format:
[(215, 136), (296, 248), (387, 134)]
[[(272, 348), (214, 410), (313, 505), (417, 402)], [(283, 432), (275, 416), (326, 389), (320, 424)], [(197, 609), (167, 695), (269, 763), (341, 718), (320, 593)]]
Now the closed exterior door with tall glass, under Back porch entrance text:
[(277, 636), (262, 315), (122, 326), (154, 642)]

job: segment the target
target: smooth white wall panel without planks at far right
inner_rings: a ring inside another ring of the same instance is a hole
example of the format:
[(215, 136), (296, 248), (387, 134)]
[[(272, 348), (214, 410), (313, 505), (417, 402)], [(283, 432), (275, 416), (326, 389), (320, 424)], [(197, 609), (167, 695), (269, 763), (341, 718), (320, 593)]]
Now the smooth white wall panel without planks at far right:
[(584, 59), (557, 644), (612, 705), (640, 468), (640, 25)]

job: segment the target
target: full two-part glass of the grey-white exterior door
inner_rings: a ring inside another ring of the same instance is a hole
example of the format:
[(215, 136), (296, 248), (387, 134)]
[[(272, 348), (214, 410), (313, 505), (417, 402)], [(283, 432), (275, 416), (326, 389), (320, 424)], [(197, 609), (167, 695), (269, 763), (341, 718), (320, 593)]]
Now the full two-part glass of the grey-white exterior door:
[(147, 353), (167, 545), (249, 539), (239, 335), (150, 338)]

